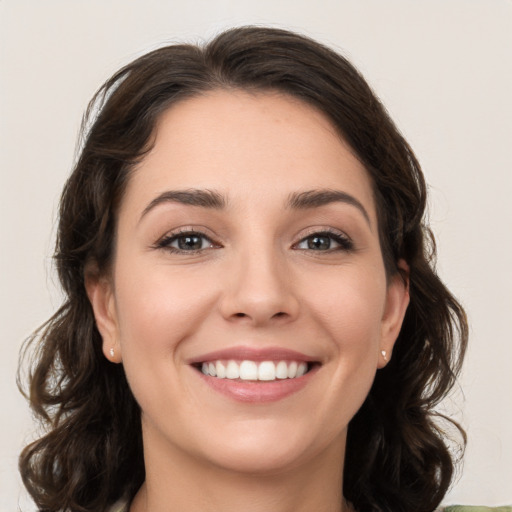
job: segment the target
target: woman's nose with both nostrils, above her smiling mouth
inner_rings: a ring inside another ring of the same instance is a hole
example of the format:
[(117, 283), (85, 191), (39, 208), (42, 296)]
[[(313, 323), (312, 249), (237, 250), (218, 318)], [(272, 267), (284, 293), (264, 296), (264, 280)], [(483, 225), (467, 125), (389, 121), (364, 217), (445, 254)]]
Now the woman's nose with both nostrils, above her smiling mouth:
[(290, 269), (272, 251), (239, 255), (229, 266), (220, 309), (230, 322), (287, 323), (299, 313)]

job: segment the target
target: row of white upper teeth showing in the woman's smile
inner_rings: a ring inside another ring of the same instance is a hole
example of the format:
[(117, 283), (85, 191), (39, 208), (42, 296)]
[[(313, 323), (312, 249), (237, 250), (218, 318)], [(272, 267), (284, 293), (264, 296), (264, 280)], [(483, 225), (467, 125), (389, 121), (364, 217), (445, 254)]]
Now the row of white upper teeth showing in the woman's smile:
[(255, 361), (244, 360), (240, 364), (236, 361), (211, 361), (201, 365), (204, 375), (219, 379), (241, 379), (273, 381), (277, 379), (294, 379), (302, 377), (308, 371), (305, 362), (297, 361)]

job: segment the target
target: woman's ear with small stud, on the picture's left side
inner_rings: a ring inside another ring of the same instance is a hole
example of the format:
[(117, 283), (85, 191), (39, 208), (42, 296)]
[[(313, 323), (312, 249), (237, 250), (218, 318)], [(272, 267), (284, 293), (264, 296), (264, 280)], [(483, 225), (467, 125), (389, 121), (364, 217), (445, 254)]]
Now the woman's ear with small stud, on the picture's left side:
[(103, 340), (103, 354), (113, 363), (120, 363), (119, 325), (116, 314), (114, 287), (111, 279), (100, 277), (90, 269), (85, 273), (85, 289), (91, 303), (96, 326)]

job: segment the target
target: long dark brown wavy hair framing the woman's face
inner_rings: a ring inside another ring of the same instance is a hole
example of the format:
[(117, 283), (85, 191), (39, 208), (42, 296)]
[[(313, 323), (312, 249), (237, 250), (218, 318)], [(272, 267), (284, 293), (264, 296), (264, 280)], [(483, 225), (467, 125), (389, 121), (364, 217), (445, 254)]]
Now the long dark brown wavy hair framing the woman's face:
[(65, 301), (23, 352), (32, 356), (26, 394), (46, 427), (20, 456), (25, 486), (40, 511), (104, 512), (133, 498), (144, 481), (140, 409), (122, 365), (102, 354), (84, 271), (93, 263), (109, 272), (116, 212), (159, 116), (215, 89), (278, 91), (313, 105), (371, 176), (386, 272), (399, 272), (399, 259), (408, 263), (411, 300), (393, 358), (349, 425), (344, 495), (361, 512), (434, 510), (454, 472), (448, 432), (461, 434), (460, 448), (465, 443), (459, 425), (434, 407), (455, 383), (467, 323), (435, 272), (420, 166), (344, 57), (304, 36), (258, 27), (228, 30), (204, 46), (152, 51), (90, 103), (60, 203), (55, 261)]

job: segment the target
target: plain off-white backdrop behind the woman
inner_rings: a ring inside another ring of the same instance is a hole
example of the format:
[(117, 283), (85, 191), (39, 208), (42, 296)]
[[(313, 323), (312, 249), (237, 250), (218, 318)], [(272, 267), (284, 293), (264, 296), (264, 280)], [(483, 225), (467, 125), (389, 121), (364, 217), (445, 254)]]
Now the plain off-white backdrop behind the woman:
[(294, 29), (343, 52), (430, 184), (438, 270), (470, 319), (442, 409), (468, 431), (447, 503), (512, 503), (512, 3), (505, 0), (0, 0), (0, 511), (32, 511), (17, 455), (34, 435), (18, 351), (60, 303), (56, 207), (88, 100), (120, 66), (225, 27)]

